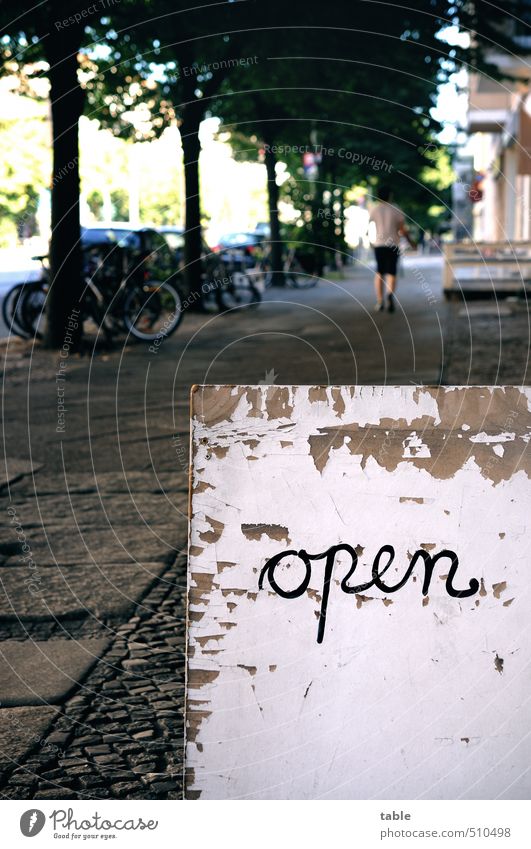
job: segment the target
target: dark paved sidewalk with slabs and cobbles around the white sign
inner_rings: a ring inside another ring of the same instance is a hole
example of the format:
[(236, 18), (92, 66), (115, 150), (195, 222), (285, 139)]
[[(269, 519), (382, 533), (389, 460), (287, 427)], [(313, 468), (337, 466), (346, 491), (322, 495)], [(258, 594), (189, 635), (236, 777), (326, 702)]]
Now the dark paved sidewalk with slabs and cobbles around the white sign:
[(193, 383), (526, 382), (525, 306), (475, 304), (470, 320), (444, 302), (437, 259), (405, 266), (393, 315), (372, 312), (358, 267), (258, 309), (189, 314), (151, 351), (5, 345), (4, 797), (180, 795)]

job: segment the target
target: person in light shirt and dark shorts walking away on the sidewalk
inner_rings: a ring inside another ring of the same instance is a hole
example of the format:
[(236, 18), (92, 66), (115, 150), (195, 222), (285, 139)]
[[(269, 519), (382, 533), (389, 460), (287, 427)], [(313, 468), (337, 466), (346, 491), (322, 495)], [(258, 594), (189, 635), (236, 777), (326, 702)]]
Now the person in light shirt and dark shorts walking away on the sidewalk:
[(389, 186), (380, 186), (378, 200), (369, 218), (371, 243), (376, 259), (374, 288), (376, 312), (384, 309), (384, 282), (387, 286), (387, 309), (395, 310), (396, 267), (400, 253), (400, 237), (404, 236), (412, 248), (415, 243), (406, 227), (404, 213), (391, 203)]

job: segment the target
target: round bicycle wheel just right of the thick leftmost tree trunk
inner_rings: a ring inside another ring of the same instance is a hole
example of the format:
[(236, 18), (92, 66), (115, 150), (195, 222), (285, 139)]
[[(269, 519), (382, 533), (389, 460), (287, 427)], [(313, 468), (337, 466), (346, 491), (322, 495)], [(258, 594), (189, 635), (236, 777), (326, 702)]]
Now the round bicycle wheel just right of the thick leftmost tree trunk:
[(134, 286), (125, 296), (123, 311), (126, 329), (144, 342), (170, 336), (183, 317), (175, 286), (157, 280)]

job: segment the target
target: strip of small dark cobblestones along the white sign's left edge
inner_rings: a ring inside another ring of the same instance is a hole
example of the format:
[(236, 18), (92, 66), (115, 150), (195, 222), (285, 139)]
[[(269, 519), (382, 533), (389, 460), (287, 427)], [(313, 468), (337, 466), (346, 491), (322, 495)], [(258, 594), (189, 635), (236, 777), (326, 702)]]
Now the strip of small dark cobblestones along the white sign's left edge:
[(180, 558), (24, 762), (3, 765), (3, 798), (180, 798), (185, 583)]

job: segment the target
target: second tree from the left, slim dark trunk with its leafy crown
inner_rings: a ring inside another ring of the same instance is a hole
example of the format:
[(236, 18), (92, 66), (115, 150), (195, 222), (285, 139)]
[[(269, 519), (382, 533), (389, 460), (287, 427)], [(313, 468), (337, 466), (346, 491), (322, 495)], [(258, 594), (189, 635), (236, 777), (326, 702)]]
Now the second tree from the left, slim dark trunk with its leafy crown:
[[(107, 70), (113, 71), (113, 91), (98, 63), (90, 82), (98, 116), (111, 126), (140, 102), (149, 104), (149, 132), (161, 132), (177, 122), (185, 174), (185, 276), (192, 297), (201, 305), (201, 198), (199, 190), (199, 129), (211, 114), (212, 98), (227, 76), (241, 67), (245, 46), (247, 3), (218, 0), (191, 4), (186, 0), (150, 0), (142, 15), (119, 13), (98, 34), (110, 48)], [(126, 95), (124, 103), (124, 95)], [(136, 132), (133, 124), (131, 130)], [(122, 122), (120, 132), (125, 132)]]

